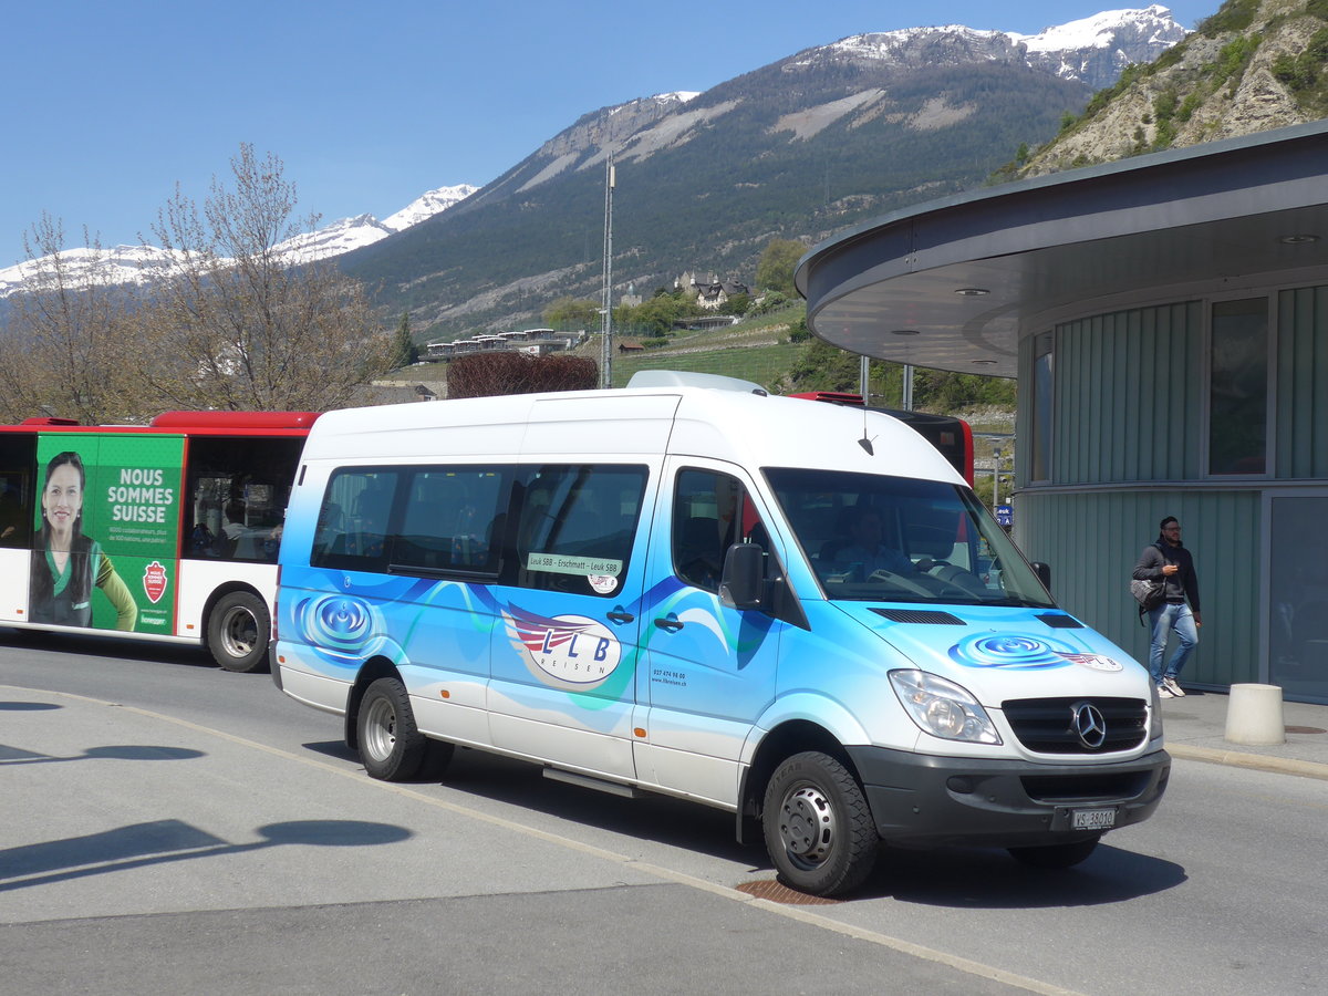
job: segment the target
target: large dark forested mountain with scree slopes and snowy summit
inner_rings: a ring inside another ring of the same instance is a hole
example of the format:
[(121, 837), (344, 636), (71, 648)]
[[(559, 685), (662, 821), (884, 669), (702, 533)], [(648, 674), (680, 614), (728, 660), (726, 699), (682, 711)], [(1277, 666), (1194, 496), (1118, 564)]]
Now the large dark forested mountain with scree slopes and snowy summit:
[[(493, 182), (396, 230), (410, 207), (283, 246), (292, 262), (335, 258), (377, 288), (384, 312), (409, 312), (430, 336), (517, 324), (552, 296), (599, 296), (612, 154), (615, 293), (648, 292), (685, 270), (750, 274), (772, 238), (817, 240), (981, 183), (1009, 150), (1053, 135), (1101, 80), (1183, 36), (1161, 5), (1032, 36), (963, 25), (847, 36), (704, 93), (588, 112)], [(106, 255), (141, 276), (163, 266), (154, 252)], [(0, 296), (17, 290), (24, 266), (0, 271)]]

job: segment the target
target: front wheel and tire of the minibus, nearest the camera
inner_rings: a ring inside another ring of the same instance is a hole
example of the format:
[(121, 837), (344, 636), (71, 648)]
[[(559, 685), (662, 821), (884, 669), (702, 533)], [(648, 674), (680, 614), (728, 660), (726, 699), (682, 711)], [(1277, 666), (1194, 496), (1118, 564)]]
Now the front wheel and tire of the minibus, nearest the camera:
[(829, 754), (794, 754), (776, 769), (761, 811), (780, 882), (809, 895), (842, 895), (876, 863), (880, 838), (857, 780)]

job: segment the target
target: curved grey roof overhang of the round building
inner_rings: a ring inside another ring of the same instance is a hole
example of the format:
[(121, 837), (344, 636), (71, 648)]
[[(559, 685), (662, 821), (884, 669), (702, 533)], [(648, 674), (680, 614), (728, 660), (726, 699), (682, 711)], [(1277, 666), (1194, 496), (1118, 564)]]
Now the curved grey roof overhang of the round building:
[(989, 187), (813, 248), (807, 324), (855, 353), (1013, 377), (1040, 316), (1328, 266), (1328, 122)]

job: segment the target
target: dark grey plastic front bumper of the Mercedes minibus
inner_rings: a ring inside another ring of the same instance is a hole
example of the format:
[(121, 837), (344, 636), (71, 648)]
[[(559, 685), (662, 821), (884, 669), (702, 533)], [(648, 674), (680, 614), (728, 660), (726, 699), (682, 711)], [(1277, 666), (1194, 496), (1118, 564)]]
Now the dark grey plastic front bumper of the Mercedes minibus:
[(1112, 829), (1153, 815), (1171, 774), (1155, 750), (1133, 761), (1033, 764), (850, 746), (876, 833), (896, 845), (1037, 847), (1100, 833), (1076, 830), (1073, 810), (1114, 809)]

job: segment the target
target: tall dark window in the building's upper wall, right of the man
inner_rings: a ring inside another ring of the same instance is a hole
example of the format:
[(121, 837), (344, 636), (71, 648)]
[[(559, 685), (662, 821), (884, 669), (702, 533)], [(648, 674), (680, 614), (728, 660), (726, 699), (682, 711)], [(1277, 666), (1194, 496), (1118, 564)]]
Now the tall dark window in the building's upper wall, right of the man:
[(1208, 473), (1263, 474), (1268, 454), (1268, 300), (1212, 305)]

